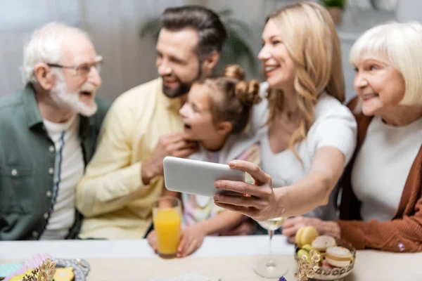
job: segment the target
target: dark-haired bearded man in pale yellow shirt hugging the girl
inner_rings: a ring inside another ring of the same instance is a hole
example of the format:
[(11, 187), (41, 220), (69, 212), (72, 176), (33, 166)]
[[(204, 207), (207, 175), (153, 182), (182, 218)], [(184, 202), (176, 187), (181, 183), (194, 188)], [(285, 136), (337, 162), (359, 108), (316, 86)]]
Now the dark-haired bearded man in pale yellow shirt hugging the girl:
[(188, 157), (179, 109), (191, 85), (212, 74), (227, 34), (202, 6), (167, 8), (156, 45), (160, 77), (122, 93), (102, 129), (98, 150), (77, 185), (84, 214), (80, 237), (140, 239), (151, 230), (152, 203), (162, 194), (162, 159)]

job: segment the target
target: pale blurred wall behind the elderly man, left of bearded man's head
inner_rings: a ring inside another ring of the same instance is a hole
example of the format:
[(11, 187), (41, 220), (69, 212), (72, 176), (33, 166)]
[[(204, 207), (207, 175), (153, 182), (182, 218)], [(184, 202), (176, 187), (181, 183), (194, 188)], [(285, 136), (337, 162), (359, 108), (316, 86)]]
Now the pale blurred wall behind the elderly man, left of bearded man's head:
[(144, 20), (185, 0), (0, 0), (0, 96), (22, 89), (18, 67), (31, 32), (62, 20), (82, 26), (103, 55), (99, 93), (113, 100), (157, 77), (153, 41), (139, 38)]

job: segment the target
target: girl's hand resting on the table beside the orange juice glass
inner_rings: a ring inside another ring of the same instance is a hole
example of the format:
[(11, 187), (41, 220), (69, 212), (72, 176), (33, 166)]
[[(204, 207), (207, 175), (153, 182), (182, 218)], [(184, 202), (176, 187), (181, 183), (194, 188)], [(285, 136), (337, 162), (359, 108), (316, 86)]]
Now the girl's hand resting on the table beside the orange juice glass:
[(177, 248), (177, 257), (183, 258), (192, 254), (203, 243), (205, 236), (206, 234), (198, 224), (193, 224), (182, 230), (181, 240)]

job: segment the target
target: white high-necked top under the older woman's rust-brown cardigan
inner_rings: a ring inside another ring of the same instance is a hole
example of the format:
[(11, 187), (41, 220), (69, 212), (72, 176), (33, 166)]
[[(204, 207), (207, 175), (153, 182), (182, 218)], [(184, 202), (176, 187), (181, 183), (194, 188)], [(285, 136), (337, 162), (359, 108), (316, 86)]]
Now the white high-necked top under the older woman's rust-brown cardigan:
[(407, 126), (390, 126), (373, 117), (352, 169), (364, 221), (390, 221), (395, 216), (421, 145), (422, 118)]

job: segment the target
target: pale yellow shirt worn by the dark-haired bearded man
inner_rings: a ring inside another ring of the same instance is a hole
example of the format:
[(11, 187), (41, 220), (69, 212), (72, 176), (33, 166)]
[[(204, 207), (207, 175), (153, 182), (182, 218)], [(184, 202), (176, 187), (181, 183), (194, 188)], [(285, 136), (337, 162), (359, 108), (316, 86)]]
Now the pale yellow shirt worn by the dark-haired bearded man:
[(77, 185), (77, 209), (84, 214), (80, 237), (142, 238), (151, 224), (151, 204), (164, 179), (141, 181), (146, 161), (167, 133), (182, 130), (180, 98), (162, 93), (162, 79), (119, 96), (108, 111), (94, 157)]

